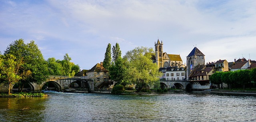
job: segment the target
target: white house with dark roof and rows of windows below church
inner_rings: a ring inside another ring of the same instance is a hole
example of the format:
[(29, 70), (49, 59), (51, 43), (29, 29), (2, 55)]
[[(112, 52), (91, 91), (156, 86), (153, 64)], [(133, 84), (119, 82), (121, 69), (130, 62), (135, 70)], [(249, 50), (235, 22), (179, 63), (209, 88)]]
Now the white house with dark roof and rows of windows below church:
[(184, 67), (171, 67), (165, 72), (166, 80), (186, 80), (186, 69)]

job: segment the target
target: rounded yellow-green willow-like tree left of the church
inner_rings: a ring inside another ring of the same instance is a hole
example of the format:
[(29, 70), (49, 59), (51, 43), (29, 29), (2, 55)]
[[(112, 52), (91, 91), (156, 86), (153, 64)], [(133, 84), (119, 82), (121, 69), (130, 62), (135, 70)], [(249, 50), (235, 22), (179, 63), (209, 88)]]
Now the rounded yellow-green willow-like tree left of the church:
[(153, 53), (152, 48), (137, 47), (126, 52), (124, 56), (128, 61), (128, 79), (138, 86), (136, 92), (140, 92), (146, 85), (152, 86), (161, 76), (158, 66), (151, 60), (151, 53)]

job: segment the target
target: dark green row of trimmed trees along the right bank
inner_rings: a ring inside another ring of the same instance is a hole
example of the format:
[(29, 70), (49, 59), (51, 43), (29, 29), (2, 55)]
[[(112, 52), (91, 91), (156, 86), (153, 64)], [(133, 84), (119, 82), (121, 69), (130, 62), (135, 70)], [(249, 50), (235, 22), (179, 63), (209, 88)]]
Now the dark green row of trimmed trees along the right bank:
[(246, 86), (251, 88), (256, 83), (256, 68), (234, 72), (215, 72), (209, 79), (212, 84), (218, 85), (219, 88), (223, 88), (223, 83), (226, 83), (229, 89), (242, 87), (245, 90)]

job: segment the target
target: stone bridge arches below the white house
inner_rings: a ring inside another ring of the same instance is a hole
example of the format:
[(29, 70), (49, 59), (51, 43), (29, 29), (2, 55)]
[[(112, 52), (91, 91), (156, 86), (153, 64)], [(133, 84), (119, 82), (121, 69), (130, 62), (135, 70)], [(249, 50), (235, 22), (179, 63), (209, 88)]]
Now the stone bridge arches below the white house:
[(160, 88), (175, 88), (181, 90), (189, 90), (192, 88), (192, 84), (186, 80), (160, 80)]

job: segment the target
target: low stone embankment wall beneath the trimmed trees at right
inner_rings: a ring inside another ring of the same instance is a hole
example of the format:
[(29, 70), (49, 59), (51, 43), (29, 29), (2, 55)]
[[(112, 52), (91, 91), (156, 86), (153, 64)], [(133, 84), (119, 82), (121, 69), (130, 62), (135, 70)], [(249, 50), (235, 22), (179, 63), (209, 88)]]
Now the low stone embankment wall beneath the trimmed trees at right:
[(241, 95), (256, 95), (255, 90), (223, 90), (223, 89), (211, 89), (211, 93), (221, 94), (241, 94)]

